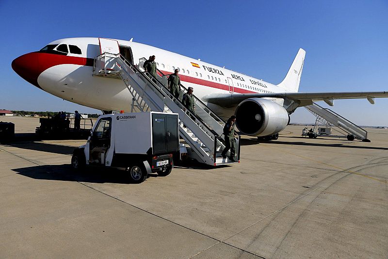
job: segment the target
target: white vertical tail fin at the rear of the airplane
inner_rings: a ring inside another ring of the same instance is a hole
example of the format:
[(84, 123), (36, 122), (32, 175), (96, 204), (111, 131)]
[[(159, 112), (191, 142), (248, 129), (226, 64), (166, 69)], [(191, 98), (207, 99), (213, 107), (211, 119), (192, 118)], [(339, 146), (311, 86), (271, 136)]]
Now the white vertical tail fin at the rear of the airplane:
[(291, 92), (298, 92), (300, 77), (302, 76), (303, 64), (305, 63), (305, 56), (306, 51), (304, 49), (299, 49), (298, 54), (296, 54), (296, 57), (292, 62), (292, 65), (290, 67), (290, 70), (288, 70), (286, 77), (277, 86), (289, 90)]

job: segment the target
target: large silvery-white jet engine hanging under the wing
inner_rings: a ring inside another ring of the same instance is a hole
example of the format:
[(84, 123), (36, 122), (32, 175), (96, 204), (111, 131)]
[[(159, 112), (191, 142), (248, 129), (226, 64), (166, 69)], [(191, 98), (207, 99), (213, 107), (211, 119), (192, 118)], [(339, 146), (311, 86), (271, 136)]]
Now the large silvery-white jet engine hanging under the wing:
[(264, 98), (243, 100), (237, 106), (235, 115), (237, 128), (249, 136), (274, 135), (290, 122), (283, 106)]

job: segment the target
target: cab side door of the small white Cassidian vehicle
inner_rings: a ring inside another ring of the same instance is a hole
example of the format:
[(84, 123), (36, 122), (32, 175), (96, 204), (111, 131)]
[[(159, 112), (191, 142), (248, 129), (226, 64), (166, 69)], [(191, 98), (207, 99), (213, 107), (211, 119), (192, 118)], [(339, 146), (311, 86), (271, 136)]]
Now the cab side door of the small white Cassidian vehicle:
[(90, 161), (94, 164), (105, 164), (106, 152), (111, 146), (111, 118), (102, 118), (89, 142)]

